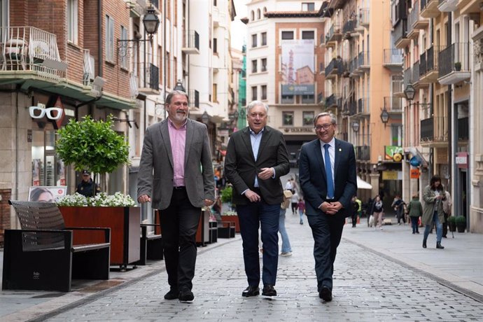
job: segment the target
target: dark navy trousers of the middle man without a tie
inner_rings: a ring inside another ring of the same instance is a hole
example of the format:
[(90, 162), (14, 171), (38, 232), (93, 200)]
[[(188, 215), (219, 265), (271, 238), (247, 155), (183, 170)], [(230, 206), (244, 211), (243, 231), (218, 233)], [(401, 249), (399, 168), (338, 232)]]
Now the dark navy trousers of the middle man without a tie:
[(260, 260), (258, 259), (258, 227), (262, 228), (263, 285), (275, 285), (276, 269), (279, 265), (279, 217), (280, 204), (264, 201), (237, 205), (243, 240), (243, 259), (248, 285), (260, 283)]

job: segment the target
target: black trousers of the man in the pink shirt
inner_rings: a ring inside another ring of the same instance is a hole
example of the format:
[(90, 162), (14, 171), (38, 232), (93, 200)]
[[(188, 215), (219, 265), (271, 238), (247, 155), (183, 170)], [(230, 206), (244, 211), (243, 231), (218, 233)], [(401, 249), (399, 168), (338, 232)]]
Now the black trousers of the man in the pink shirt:
[(196, 263), (196, 230), (201, 208), (194, 207), (186, 189), (173, 189), (169, 207), (160, 210), (162, 244), (168, 283), (172, 289), (193, 288)]

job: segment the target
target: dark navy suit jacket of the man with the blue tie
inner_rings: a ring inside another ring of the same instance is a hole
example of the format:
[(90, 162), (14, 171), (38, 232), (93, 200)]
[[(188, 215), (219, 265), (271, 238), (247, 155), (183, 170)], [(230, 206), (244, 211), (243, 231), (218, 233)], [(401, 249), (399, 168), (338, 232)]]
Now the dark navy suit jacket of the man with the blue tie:
[[(299, 178), (307, 216), (321, 214), (318, 207), (327, 197), (327, 187), (319, 139), (302, 146)], [(339, 139), (335, 139), (334, 182), (334, 199), (344, 206), (338, 214), (351, 216), (351, 198), (357, 191), (356, 154), (352, 144)]]

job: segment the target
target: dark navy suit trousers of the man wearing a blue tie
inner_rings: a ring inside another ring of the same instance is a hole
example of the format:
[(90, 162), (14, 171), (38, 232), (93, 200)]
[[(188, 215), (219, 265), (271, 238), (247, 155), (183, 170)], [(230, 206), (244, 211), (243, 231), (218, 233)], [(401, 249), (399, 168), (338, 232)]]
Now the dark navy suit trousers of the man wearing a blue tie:
[(317, 276), (317, 290), (322, 286), (332, 290), (332, 274), (340, 243), (345, 219), (342, 214), (317, 214), (307, 216), (314, 237), (315, 274)]

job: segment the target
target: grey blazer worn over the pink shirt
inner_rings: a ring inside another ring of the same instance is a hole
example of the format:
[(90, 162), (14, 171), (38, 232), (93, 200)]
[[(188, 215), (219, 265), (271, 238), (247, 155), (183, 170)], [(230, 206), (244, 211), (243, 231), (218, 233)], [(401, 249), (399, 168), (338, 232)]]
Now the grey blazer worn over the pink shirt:
[[(168, 120), (146, 129), (139, 163), (137, 195), (148, 195), (154, 209), (167, 209), (173, 194), (173, 154)], [(207, 126), (188, 118), (185, 146), (185, 184), (195, 207), (215, 200), (215, 180)]]

